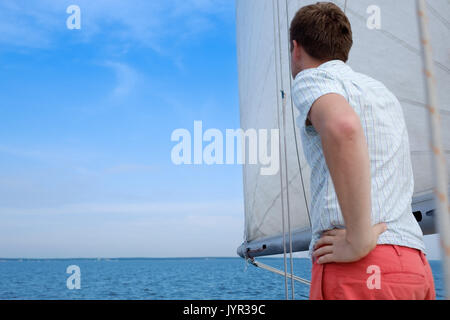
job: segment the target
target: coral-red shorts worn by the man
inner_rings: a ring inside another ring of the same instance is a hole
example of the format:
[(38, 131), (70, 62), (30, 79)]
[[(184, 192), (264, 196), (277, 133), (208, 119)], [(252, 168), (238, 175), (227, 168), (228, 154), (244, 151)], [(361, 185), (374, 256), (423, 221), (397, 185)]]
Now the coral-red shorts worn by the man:
[(412, 248), (378, 245), (353, 263), (313, 263), (311, 300), (435, 300), (425, 255)]

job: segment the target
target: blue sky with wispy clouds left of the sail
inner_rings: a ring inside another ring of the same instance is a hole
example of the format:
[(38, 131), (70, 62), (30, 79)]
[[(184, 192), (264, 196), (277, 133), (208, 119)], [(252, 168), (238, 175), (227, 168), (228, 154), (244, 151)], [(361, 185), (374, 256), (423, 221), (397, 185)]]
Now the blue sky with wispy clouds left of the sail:
[(0, 256), (234, 256), (241, 167), (170, 137), (239, 127), (235, 46), (229, 0), (2, 0)]

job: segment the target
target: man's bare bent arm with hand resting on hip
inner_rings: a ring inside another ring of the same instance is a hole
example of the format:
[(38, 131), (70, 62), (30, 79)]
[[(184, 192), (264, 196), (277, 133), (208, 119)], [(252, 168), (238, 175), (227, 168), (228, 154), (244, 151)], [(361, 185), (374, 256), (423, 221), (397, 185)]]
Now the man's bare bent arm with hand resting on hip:
[(320, 134), (346, 225), (345, 231), (326, 232), (315, 256), (321, 257), (319, 263), (357, 261), (375, 248), (386, 229), (384, 224), (372, 227), (370, 160), (361, 122), (338, 94), (318, 99), (309, 120)]

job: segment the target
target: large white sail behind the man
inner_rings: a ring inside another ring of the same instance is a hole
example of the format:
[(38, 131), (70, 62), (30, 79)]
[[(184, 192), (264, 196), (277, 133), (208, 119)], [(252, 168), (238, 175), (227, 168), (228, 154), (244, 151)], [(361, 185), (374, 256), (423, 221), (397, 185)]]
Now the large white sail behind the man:
[[(299, 129), (295, 127), (297, 111), (292, 108), (290, 100), (288, 26), (299, 8), (315, 2), (237, 0), (241, 126), (243, 129), (280, 128), (282, 135), (286, 133), (286, 154), (282, 145), (278, 175), (261, 176), (259, 166), (244, 166), (245, 242), (238, 250), (241, 256), (245, 256), (248, 250), (252, 250), (254, 256), (283, 252), (282, 201), (285, 215), (289, 211), (291, 219), (294, 251), (306, 250), (309, 244), (310, 168), (303, 156)], [(432, 150), (415, 2), (334, 2), (341, 8), (345, 7), (353, 27), (354, 46), (349, 65), (355, 71), (382, 81), (402, 103), (415, 176), (413, 208), (421, 212), (424, 232), (434, 233), (431, 217), (434, 208)], [(368, 8), (374, 8), (373, 5), (380, 9), (380, 29), (368, 27), (367, 21), (371, 16)], [(443, 141), (447, 163), (450, 164), (450, 2), (433, 0), (428, 6), (432, 18), (430, 28), (442, 110)], [(287, 95), (284, 114), (280, 90)], [(286, 181), (289, 181), (288, 188)], [(266, 245), (268, 243), (270, 248)]]

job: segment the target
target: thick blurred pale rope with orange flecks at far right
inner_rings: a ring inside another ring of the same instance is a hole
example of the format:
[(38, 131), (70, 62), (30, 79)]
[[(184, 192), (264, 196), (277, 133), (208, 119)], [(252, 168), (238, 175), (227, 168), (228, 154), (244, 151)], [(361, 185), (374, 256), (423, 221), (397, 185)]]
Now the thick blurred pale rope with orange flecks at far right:
[(420, 23), (422, 55), (427, 88), (427, 107), (431, 127), (431, 147), (433, 149), (437, 229), (441, 237), (442, 264), (445, 277), (446, 298), (450, 300), (450, 209), (447, 193), (447, 167), (441, 136), (441, 119), (438, 104), (436, 76), (425, 0), (417, 0)]

